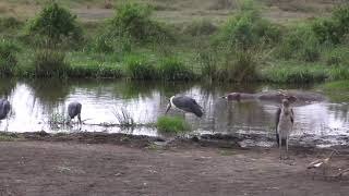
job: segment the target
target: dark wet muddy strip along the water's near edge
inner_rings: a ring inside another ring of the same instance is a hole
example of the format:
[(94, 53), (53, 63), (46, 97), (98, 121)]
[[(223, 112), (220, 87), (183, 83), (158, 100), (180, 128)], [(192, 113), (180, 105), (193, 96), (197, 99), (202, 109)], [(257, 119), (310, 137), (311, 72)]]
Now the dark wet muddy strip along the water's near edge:
[[(183, 135), (172, 137), (154, 137), (145, 135), (131, 135), (122, 133), (80, 132), (57, 133), (26, 132), (26, 133), (0, 133), (2, 140), (45, 140), (45, 142), (75, 142), (87, 144), (115, 144), (129, 147), (147, 147), (157, 145), (170, 147), (178, 145), (198, 145), (222, 148), (246, 148), (246, 147), (274, 147), (276, 146), (274, 134), (234, 133), (234, 134), (201, 134)], [(290, 137), (290, 146), (297, 148), (347, 148), (349, 136), (318, 136), (304, 134)]]

